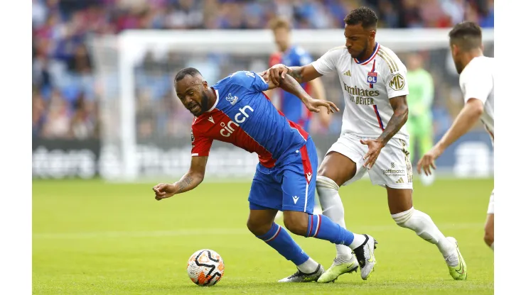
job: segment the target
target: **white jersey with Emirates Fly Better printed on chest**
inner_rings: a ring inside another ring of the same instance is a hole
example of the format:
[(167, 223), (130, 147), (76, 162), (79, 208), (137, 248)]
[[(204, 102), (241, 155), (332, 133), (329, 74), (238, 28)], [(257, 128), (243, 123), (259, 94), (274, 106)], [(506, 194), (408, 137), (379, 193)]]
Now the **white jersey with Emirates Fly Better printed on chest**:
[[(377, 138), (394, 113), (389, 100), (409, 94), (406, 67), (392, 50), (380, 43), (376, 43), (371, 57), (363, 62), (340, 46), (328, 50), (311, 65), (320, 74), (338, 72), (345, 99), (341, 134)], [(405, 125), (393, 138), (409, 138)]]

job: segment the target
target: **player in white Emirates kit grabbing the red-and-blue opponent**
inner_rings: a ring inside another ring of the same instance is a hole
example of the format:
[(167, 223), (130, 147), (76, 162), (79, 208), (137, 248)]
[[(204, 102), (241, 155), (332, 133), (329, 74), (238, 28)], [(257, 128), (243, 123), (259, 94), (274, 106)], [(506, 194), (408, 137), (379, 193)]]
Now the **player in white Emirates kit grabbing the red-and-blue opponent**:
[[(467, 267), (456, 240), (446, 238), (426, 213), (413, 207), (409, 134), (404, 126), (409, 110), (406, 67), (392, 50), (375, 41), (378, 18), (374, 11), (360, 7), (344, 21), (345, 46), (328, 50), (303, 67), (274, 65), (267, 70), (274, 81), (285, 74), (300, 83), (329, 72), (337, 72), (340, 78), (345, 96), (341, 134), (316, 179), (323, 214), (345, 227), (338, 189), (368, 172), (372, 184), (387, 189), (387, 203), (397, 225), (437, 245), (451, 277), (466, 279)], [(356, 271), (358, 265), (362, 279), (367, 279), (376, 264), (375, 243), (364, 238), (364, 247), (354, 250), (356, 257), (349, 248), (338, 245), (333, 265), (318, 282), (333, 282), (341, 274)]]

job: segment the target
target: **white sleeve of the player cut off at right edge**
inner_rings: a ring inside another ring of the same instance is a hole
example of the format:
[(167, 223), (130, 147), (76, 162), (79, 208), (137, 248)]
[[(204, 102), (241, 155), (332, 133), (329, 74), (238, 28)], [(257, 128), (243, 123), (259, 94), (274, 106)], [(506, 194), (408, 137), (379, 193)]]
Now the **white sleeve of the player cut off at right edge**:
[(473, 60), (466, 67), (459, 78), (464, 102), (469, 99), (480, 99), (483, 104), (493, 91), (493, 72), (484, 62)]

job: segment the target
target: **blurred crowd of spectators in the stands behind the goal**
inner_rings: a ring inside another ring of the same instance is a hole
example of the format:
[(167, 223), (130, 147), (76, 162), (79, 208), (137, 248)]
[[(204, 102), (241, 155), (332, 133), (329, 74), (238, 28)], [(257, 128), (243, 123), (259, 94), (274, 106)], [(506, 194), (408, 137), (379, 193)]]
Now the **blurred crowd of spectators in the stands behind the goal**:
[[(100, 87), (86, 44), (91, 34), (117, 34), (132, 28), (260, 29), (277, 15), (286, 16), (298, 29), (341, 28), (345, 14), (362, 5), (377, 11), (383, 28), (446, 28), (463, 20), (493, 28), (493, 0), (33, 0), (33, 137), (97, 137)], [(144, 68), (155, 71), (148, 58)], [(166, 75), (170, 70), (161, 72)], [(147, 85), (151, 78), (147, 71), (139, 74), (144, 74), (139, 87), (141, 82)], [(154, 117), (162, 116), (147, 105), (149, 96), (157, 95), (168, 104), (165, 109), (177, 108), (172, 106), (169, 80), (159, 94), (137, 89), (139, 134), (170, 129), (162, 118), (156, 118), (159, 125), (155, 126)], [(446, 111), (444, 120), (450, 116)], [(150, 118), (145, 121), (149, 123), (141, 123), (143, 117)]]

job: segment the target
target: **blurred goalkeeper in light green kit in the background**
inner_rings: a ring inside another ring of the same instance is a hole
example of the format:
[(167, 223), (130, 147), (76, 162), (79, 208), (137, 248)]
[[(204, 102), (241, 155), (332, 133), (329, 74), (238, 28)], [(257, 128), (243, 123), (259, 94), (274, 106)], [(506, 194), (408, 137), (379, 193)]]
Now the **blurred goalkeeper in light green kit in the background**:
[[(414, 160), (414, 146), (418, 145), (418, 157), (433, 146), (433, 114), (431, 106), (434, 97), (433, 77), (422, 65), (422, 55), (414, 53), (407, 59), (407, 81), (409, 95), (407, 104), (409, 116), (407, 131), (409, 132), (409, 160)], [(434, 181), (434, 174), (422, 174), (422, 184), (429, 185)]]

